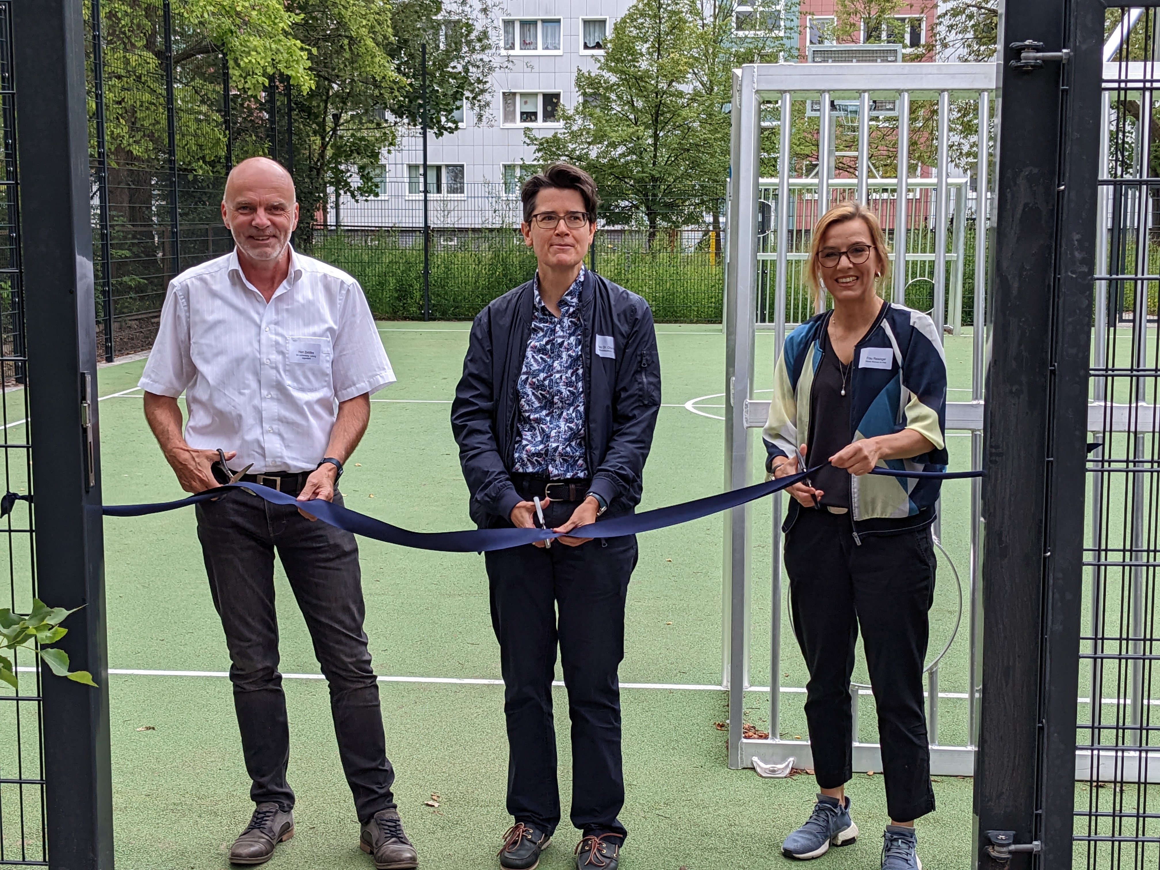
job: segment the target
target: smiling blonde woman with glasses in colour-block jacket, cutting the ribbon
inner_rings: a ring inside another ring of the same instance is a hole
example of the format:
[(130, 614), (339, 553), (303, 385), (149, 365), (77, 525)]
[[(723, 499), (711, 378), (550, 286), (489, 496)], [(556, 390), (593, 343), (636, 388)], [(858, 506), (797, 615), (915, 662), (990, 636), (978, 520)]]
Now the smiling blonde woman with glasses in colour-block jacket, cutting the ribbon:
[(822, 467), (790, 487), (782, 527), (793, 630), (810, 670), (805, 713), (819, 795), (782, 844), (815, 858), (858, 829), (844, 785), (854, 738), (850, 676), (861, 628), (878, 711), (886, 807), (883, 870), (920, 870), (914, 820), (935, 809), (922, 667), (940, 480), (870, 476), (876, 465), (944, 471), (947, 367), (926, 314), (885, 302), (890, 260), (858, 203), (813, 231), (806, 281), (834, 307), (785, 339), (763, 432), (767, 471)]

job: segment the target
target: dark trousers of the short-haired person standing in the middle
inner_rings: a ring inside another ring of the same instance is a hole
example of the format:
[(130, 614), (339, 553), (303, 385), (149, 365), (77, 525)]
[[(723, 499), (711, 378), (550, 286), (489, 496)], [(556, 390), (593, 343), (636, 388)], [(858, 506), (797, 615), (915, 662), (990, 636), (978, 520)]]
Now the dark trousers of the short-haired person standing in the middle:
[[(575, 507), (551, 502), (544, 512), (549, 528), (561, 525)], [(616, 670), (624, 658), (636, 537), (551, 549), (528, 544), (485, 556), (503, 673), (508, 812), (549, 834), (560, 821), (552, 718), (559, 643), (572, 719), (572, 824), (585, 834), (626, 835), (616, 818), (624, 806)]]

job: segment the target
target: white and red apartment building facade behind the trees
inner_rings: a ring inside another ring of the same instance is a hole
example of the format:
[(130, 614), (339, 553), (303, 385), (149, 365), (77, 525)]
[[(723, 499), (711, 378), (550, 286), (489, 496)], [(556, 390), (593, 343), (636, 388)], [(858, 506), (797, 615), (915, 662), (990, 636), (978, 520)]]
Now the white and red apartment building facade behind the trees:
[[(512, 226), (519, 222), (521, 166), (534, 160), (525, 132), (550, 135), (560, 109), (580, 99), (578, 71), (595, 71), (612, 24), (632, 0), (508, 0), (496, 21), (499, 53), (506, 61), (492, 77), (483, 111), (464, 106), (458, 130), (427, 142), (428, 222), (433, 226)], [(781, 7), (738, 5), (732, 12), (739, 38), (784, 34), (804, 60), (811, 43), (834, 42), (835, 0), (800, 0), (796, 21), (783, 22)], [(900, 43), (912, 49), (928, 41), (935, 7), (912, 0), (885, 22), (863, 24), (862, 42)], [(786, 27), (783, 27), (783, 23)], [(415, 227), (423, 224), (422, 137), (400, 131), (397, 147), (383, 154), (378, 195), (342, 197), (332, 211), (346, 227)]]

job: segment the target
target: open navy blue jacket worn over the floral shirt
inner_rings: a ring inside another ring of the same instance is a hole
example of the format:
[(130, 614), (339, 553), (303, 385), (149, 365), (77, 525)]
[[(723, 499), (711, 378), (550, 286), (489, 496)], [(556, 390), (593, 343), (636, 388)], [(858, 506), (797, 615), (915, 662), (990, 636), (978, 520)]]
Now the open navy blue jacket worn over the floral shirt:
[[(522, 501), (510, 470), (535, 292), (529, 281), (479, 312), (455, 390), (451, 429), (471, 492), (471, 519), (480, 528), (507, 520)], [(606, 516), (614, 516), (640, 502), (640, 476), (660, 408), (657, 335), (648, 303), (592, 270), (580, 290), (580, 316), (586, 467), (595, 470), (592, 490), (608, 503)], [(597, 335), (612, 338), (614, 356), (596, 354)]]

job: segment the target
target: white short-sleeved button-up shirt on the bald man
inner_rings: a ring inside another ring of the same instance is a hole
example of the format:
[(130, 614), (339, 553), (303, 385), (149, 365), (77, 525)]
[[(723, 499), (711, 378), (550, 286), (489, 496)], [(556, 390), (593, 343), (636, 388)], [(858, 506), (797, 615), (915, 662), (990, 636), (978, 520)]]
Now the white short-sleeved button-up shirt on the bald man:
[(139, 386), (184, 391), (189, 445), (237, 450), (232, 467), (261, 473), (313, 470), (338, 403), (393, 380), (357, 281), (291, 252), (267, 303), (234, 251), (169, 283)]

